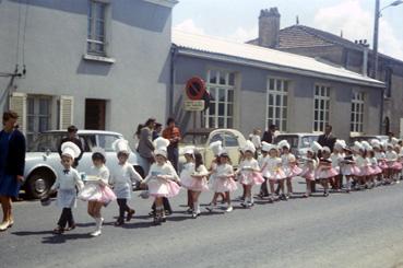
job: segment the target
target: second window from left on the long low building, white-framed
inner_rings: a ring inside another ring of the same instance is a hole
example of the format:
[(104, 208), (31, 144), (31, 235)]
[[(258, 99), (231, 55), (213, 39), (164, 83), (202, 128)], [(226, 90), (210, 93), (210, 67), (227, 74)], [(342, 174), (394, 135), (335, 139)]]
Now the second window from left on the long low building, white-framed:
[[(271, 89), (271, 80), (273, 80), (274, 89)], [(277, 82), (281, 83), (281, 89), (277, 89)], [(285, 86), (287, 84), (287, 86)], [(280, 131), (287, 131), (288, 129), (288, 110), (289, 110), (289, 86), (291, 81), (284, 78), (270, 77), (266, 81), (266, 96), (265, 96), (265, 129), (270, 125), (276, 125)], [(285, 91), (286, 88), (286, 91)], [(270, 104), (270, 96), (273, 97), (273, 104)], [(277, 105), (277, 96), (280, 97), (280, 105)], [(284, 105), (284, 100), (286, 98), (286, 105)], [(273, 109), (272, 117), (270, 116), (270, 109)], [(276, 108), (280, 110), (280, 116), (277, 116)], [(285, 112), (284, 112), (285, 110)], [(285, 114), (285, 117), (284, 117)], [(278, 121), (278, 124), (277, 124)]]

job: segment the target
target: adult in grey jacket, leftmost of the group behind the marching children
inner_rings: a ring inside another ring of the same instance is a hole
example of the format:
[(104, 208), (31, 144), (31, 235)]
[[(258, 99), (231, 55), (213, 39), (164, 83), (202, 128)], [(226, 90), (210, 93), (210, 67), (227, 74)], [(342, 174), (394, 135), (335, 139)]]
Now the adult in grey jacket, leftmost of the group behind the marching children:
[(140, 156), (146, 160), (147, 166), (144, 166), (144, 174), (149, 174), (149, 170), (154, 159), (153, 130), (155, 127), (155, 119), (149, 118), (144, 127), (140, 131), (138, 152)]

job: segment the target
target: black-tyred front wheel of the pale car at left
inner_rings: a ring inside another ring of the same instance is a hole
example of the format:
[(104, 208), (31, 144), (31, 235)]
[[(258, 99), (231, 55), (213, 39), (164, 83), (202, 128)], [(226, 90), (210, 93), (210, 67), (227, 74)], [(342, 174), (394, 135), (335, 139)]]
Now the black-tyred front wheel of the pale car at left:
[(50, 172), (40, 171), (33, 173), (25, 183), (25, 191), (28, 198), (38, 199), (44, 197), (55, 180)]

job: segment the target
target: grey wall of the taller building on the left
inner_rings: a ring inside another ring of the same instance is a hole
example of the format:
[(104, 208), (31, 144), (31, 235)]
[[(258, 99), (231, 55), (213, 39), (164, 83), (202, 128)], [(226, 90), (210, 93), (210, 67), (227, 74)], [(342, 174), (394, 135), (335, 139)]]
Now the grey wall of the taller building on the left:
[[(25, 2), (25, 1), (23, 1)], [(0, 1), (0, 71), (22, 66), (25, 50), (27, 73), (13, 90), (27, 94), (74, 97), (73, 124), (84, 127), (85, 98), (107, 101), (106, 129), (129, 140), (137, 124), (150, 116), (165, 120), (169, 84), (171, 9), (141, 0), (109, 1), (108, 57), (115, 63), (83, 59), (86, 53), (87, 1), (31, 0), (25, 31), (20, 30), (16, 62), (17, 1)], [(25, 4), (21, 4), (24, 25)], [(1, 94), (9, 78), (0, 78)], [(56, 102), (55, 102), (56, 104)], [(7, 97), (1, 98), (5, 109)], [(158, 108), (155, 108), (158, 107)], [(57, 126), (56, 105), (52, 126)]]

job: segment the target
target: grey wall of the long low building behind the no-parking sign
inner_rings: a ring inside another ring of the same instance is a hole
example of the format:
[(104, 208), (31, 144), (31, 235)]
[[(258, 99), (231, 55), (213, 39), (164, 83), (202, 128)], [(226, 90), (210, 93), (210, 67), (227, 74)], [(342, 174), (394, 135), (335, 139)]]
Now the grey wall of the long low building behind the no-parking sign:
[[(379, 89), (368, 89), (359, 85), (333, 82), (291, 73), (282, 73), (263, 70), (235, 63), (178, 56), (175, 61), (175, 116), (183, 130), (192, 127), (192, 117), (181, 108), (185, 98), (185, 84), (191, 77), (198, 75), (206, 79), (206, 72), (211, 68), (236, 72), (236, 93), (238, 103), (235, 114), (237, 115), (236, 128), (244, 135), (249, 135), (253, 128), (264, 129), (266, 113), (266, 83), (268, 78), (288, 80), (288, 132), (311, 132), (313, 120), (313, 89), (316, 84), (325, 84), (331, 88), (331, 113), (330, 124), (334, 127), (337, 137), (349, 137), (351, 100), (353, 90), (365, 92), (365, 123), (366, 133), (379, 132), (380, 94)], [(371, 118), (371, 123), (369, 123)], [(200, 127), (200, 114), (198, 115)]]

